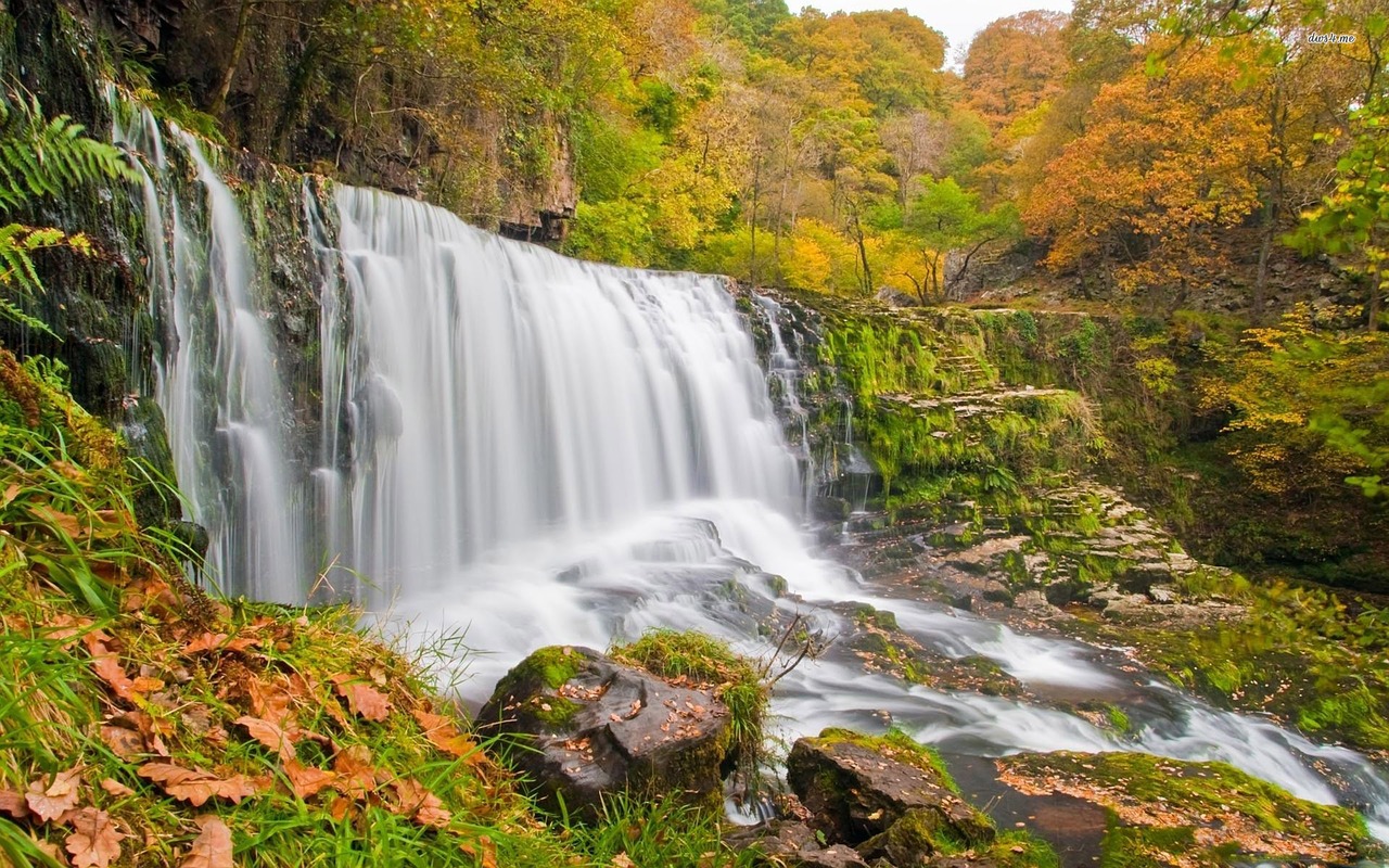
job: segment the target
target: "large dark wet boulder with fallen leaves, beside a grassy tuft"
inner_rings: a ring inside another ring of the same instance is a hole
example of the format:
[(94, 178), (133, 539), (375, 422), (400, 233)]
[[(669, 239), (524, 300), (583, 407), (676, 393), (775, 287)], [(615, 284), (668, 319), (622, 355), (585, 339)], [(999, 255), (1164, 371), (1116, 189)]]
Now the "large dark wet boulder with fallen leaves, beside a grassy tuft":
[(707, 690), (669, 685), (583, 647), (547, 647), (517, 664), (478, 712), (508, 735), (504, 758), (533, 796), (593, 819), (604, 796), (629, 792), (721, 803), (728, 708)]

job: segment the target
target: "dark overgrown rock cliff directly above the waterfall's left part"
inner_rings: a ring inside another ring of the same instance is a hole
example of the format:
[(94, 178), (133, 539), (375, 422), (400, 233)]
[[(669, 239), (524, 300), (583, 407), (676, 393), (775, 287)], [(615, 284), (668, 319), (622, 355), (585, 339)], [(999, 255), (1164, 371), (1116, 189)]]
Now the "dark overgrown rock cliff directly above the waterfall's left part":
[[(425, 199), (529, 240), (560, 240), (574, 215), (568, 124), (535, 82), (511, 82), (494, 58), (454, 67), (408, 54), (408, 32), (357, 4), (13, 0), (8, 8), (26, 21), (33, 51), (71, 15), (96, 39), (85, 62), (106, 65), (101, 78), (267, 160)], [(476, 26), (485, 37), (486, 22)], [(54, 108), (83, 121), (100, 111), (90, 100)]]

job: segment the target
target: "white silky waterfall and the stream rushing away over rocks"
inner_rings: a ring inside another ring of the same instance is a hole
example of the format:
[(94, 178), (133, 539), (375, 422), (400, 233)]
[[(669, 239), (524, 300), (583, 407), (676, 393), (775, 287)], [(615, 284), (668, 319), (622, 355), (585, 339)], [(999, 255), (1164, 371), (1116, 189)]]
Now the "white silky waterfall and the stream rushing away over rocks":
[[(321, 276), (319, 404), (304, 408), (279, 374), (289, 350), (267, 325), (236, 199), (199, 143), (164, 139), (147, 114), (117, 136), (144, 157), (151, 308), (164, 325), (154, 390), (228, 590), (301, 601), (322, 571), (319, 583), (414, 642), (461, 636), (474, 649), (454, 661), (469, 701), (540, 644), (603, 647), (664, 625), (765, 654), (736, 600), (797, 608), (826, 632), (842, 624), (831, 603), (868, 601), (924, 644), (988, 657), (1039, 694), (1114, 701), (1135, 732), (1121, 742), (1051, 707), (836, 662), (781, 682), (789, 731), (890, 718), (972, 756), (1225, 760), (1299, 796), (1356, 804), (1389, 836), (1389, 782), (1353, 751), (1135, 681), (1097, 649), (883, 597), (813, 554), (800, 522), (814, 461), (804, 433), (788, 446), (768, 392), (770, 374), (781, 410), (803, 419), (796, 361), (774, 328), (772, 369), (758, 367), (722, 281), (582, 264), (417, 201), (346, 186), (324, 200), (306, 183)], [(165, 154), (175, 147), (192, 190)], [(761, 307), (775, 319), (775, 303)], [(317, 424), (289, 424), (313, 411)], [(799, 601), (778, 597), (770, 576)]]

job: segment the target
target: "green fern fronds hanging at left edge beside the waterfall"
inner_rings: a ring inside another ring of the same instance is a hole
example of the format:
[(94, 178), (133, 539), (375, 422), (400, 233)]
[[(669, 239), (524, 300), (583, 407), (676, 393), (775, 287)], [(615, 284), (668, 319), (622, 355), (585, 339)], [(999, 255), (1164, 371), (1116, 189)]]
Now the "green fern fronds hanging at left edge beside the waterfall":
[[(83, 132), (68, 115), (44, 121), (36, 96), (0, 90), (0, 214), (83, 183), (135, 178), (118, 149)], [(25, 301), (43, 293), (32, 254), (50, 247), (92, 253), (81, 233), (17, 222), (0, 226), (0, 318), (53, 335), (24, 310)]]

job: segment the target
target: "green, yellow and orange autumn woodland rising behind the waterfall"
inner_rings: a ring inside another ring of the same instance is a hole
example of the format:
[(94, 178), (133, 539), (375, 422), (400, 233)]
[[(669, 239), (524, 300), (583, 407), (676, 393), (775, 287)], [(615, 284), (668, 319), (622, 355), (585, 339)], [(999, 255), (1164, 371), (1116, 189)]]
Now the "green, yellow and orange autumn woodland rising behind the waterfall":
[(576, 257), (1115, 317), (1068, 361), (1114, 481), (1204, 557), (1383, 586), (1374, 0), (1078, 0), (968, 46), (783, 0), (72, 8), (185, 128)]

